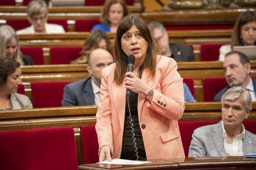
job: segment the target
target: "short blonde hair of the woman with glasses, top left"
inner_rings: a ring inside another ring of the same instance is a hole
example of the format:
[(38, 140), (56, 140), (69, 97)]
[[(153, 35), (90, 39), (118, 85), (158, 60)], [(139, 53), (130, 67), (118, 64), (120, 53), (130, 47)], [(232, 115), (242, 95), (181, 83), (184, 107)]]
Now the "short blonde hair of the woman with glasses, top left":
[(33, 16), (44, 13), (47, 17), (48, 6), (43, 0), (32, 0), (27, 7), (28, 18), (32, 19)]

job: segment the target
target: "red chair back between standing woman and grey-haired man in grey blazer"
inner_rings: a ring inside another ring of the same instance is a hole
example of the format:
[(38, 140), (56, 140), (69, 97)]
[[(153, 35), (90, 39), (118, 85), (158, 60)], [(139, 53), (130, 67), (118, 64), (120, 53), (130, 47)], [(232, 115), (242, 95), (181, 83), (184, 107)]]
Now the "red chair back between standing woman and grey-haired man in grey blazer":
[(192, 140), (192, 134), (197, 127), (212, 125), (219, 121), (178, 121), (182, 145), (185, 157), (189, 155), (189, 145)]

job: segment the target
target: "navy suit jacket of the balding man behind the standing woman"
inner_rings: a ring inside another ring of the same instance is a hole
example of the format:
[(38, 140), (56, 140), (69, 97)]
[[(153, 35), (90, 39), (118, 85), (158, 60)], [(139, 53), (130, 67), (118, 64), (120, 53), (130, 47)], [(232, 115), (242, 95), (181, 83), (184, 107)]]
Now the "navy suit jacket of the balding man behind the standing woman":
[(62, 106), (93, 105), (94, 94), (91, 77), (65, 85)]

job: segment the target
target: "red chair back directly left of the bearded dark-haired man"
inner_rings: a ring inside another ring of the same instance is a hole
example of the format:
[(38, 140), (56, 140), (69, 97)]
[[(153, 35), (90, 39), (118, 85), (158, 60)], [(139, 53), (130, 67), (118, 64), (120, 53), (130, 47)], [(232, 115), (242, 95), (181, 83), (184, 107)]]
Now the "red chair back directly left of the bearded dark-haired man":
[(228, 85), (225, 78), (204, 78), (202, 84), (204, 102), (212, 102), (214, 96)]

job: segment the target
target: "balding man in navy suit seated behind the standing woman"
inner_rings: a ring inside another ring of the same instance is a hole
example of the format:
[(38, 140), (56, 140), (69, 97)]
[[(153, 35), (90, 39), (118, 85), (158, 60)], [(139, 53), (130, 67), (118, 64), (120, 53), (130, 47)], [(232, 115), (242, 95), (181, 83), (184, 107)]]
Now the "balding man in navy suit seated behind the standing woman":
[(102, 69), (113, 63), (112, 55), (104, 49), (95, 49), (88, 58), (87, 71), (91, 77), (64, 87), (62, 106), (98, 105)]

